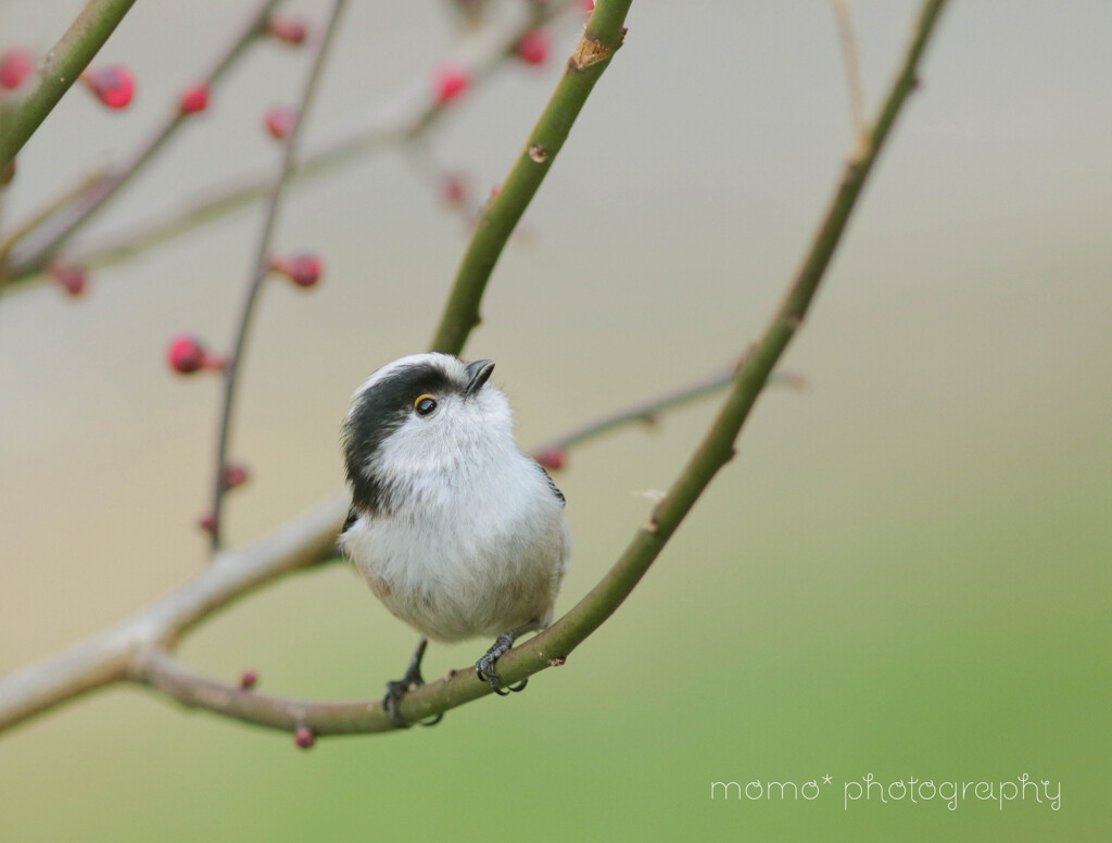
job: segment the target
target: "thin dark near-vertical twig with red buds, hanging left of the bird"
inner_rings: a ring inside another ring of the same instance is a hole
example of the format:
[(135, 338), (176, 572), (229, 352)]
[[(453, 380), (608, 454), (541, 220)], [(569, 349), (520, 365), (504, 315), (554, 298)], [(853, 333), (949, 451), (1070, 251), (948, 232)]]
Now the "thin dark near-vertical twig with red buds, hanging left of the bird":
[(281, 206), (282, 194), (287, 184), (289, 184), (290, 173), (294, 172), (294, 162), (297, 160), (298, 138), (301, 137), (301, 129), (306, 123), (306, 118), (308, 117), (320, 82), (325, 58), (328, 56), (329, 47), (335, 40), (339, 28), (339, 20), (346, 7), (347, 0), (335, 0), (332, 4), (332, 11), (329, 14), (324, 34), (320, 37), (316, 54), (312, 57), (309, 76), (306, 78), (305, 87), (301, 91), (300, 101), (297, 106), (297, 119), (289, 135), (284, 140), (281, 163), (278, 168), (278, 176), (274, 181), (274, 187), (270, 189), (270, 200), (267, 202), (264, 214), (262, 229), (259, 232), (258, 246), (255, 250), (255, 261), (247, 282), (247, 295), (236, 325), (236, 335), (232, 343), (234, 350), (224, 366), (224, 401), (220, 407), (220, 420), (217, 434), (216, 478), (212, 483), (212, 527), (210, 536), (214, 551), (220, 548), (222, 533), (220, 516), (225, 493), (228, 490), (225, 469), (228, 464), (231, 418), (237, 396), (236, 385), (244, 361), (244, 351), (247, 348), (247, 337), (251, 330), (251, 319), (255, 316), (255, 306), (259, 298), (259, 291), (267, 275), (270, 272), (270, 241), (274, 238), (275, 228), (278, 224), (278, 209)]

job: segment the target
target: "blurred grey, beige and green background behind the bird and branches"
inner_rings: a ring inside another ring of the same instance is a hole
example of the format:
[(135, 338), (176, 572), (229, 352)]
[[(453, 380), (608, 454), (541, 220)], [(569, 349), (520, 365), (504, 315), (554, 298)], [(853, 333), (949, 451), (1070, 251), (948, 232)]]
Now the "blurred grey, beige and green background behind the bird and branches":
[[(81, 4), (0, 4), (46, 49)], [(101, 53), (139, 78), (108, 113), (72, 90), (20, 156), (8, 220), (119, 160), (248, 13), (137, 3)], [(291, 9), (320, 18), (325, 3)], [(871, 107), (915, 3), (855, 3)], [(575, 43), (510, 65), (426, 160), (500, 181)], [(497, 361), (524, 445), (734, 359), (807, 246), (850, 145), (827, 2), (636, 2), (625, 48), (504, 255), (471, 357)], [(434, 730), (326, 740), (189, 714), (139, 690), (0, 738), (0, 839), (198, 841), (1102, 840), (1110, 750), (1112, 58), (1105, 0), (955, 0), (785, 366), (626, 605), (527, 693)], [(310, 147), (418, 93), (451, 50), (445, 4), (354, 3)], [(209, 113), (87, 232), (126, 231), (199, 186), (274, 166), (261, 115), (308, 53), (257, 49)], [(230, 337), (260, 209), (93, 279), (0, 299), (0, 671), (129, 615), (205, 564), (215, 379), (168, 338)], [(400, 150), (297, 188), (282, 249), (322, 286), (265, 290), (234, 456), (232, 542), (342, 482), (337, 427), (377, 366), (427, 346), (467, 230)], [(574, 567), (606, 571), (714, 401), (576, 450)], [(269, 692), (377, 695), (414, 635), (344, 565), (258, 593), (188, 663)], [(427, 675), (484, 642), (435, 647)], [(844, 783), (1061, 785), (1061, 809), (851, 804)], [(813, 802), (711, 800), (715, 781), (832, 777)]]

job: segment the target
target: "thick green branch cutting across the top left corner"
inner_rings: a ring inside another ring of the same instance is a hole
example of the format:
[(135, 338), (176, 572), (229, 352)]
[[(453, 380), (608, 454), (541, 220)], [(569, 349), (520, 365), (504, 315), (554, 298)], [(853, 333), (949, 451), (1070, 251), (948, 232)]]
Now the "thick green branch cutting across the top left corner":
[(89, 0), (86, 3), (66, 34), (42, 59), (34, 89), (18, 105), (0, 112), (0, 170), (23, 148), (81, 76), (132, 3), (135, 0)]

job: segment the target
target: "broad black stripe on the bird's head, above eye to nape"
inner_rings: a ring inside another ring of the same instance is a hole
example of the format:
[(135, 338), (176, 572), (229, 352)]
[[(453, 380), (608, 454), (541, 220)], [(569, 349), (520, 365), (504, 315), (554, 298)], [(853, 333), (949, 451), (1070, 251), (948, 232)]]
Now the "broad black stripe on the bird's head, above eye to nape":
[(367, 513), (377, 512), (385, 504), (386, 488), (368, 476), (367, 464), (386, 437), (406, 420), (414, 401), (425, 393), (439, 396), (463, 390), (464, 385), (429, 363), (399, 368), (364, 390), (341, 430), (353, 504)]

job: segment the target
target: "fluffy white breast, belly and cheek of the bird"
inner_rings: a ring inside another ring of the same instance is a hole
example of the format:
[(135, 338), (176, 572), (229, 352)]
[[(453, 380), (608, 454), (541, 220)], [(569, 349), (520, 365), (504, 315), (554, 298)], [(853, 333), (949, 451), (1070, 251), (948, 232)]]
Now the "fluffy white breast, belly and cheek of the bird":
[(390, 435), (375, 457), (389, 506), (342, 538), (387, 608), (438, 641), (547, 625), (569, 558), (563, 505), (514, 444), (508, 403), (489, 385), (476, 397)]

